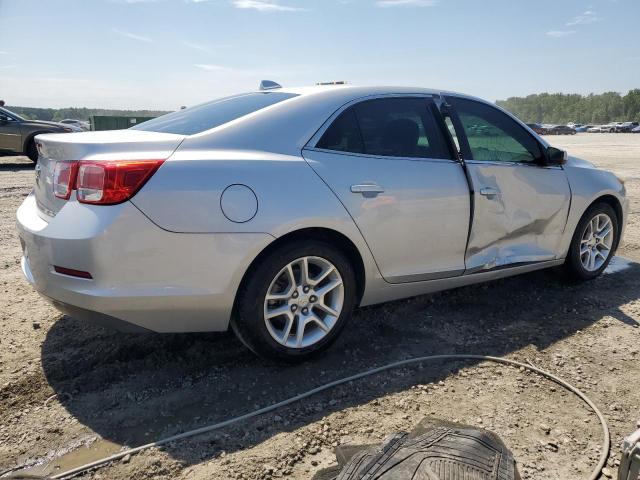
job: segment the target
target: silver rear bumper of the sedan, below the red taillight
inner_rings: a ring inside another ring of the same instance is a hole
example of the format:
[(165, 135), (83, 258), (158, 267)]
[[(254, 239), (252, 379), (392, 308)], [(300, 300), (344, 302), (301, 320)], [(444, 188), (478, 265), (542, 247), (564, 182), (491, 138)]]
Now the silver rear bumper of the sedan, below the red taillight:
[[(133, 204), (69, 201), (49, 221), (35, 197), (17, 212), (25, 278), (57, 308), (120, 330), (226, 330), (242, 275), (268, 234), (162, 230)], [(55, 272), (61, 266), (92, 279)]]

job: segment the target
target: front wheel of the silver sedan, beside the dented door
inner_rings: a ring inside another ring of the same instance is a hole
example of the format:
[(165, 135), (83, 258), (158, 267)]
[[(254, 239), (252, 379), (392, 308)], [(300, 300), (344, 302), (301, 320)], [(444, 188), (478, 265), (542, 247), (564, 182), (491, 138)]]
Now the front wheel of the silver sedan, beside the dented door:
[(571, 239), (563, 269), (573, 280), (592, 280), (609, 265), (618, 244), (618, 216), (606, 203), (589, 207)]

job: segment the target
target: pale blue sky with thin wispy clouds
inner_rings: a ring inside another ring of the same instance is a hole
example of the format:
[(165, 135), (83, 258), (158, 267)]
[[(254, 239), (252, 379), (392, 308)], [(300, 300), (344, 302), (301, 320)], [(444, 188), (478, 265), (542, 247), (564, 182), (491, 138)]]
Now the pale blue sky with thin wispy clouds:
[(262, 79), (626, 93), (638, 25), (639, 0), (0, 0), (0, 99), (173, 110)]

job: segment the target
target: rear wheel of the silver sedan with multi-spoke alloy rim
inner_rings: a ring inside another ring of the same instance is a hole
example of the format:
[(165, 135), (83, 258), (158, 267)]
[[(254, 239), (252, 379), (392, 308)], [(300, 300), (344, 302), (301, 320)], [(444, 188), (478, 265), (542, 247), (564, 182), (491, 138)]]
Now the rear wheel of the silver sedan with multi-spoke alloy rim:
[(331, 345), (355, 305), (348, 258), (319, 241), (283, 245), (244, 282), (231, 326), (254, 353), (302, 361)]

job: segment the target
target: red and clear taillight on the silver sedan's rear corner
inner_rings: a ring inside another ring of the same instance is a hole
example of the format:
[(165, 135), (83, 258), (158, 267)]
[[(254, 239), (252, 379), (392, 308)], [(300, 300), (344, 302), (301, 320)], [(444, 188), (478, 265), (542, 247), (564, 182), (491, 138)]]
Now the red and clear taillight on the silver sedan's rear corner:
[[(164, 160), (57, 162), (54, 193), (56, 197), (68, 199), (71, 190), (75, 188), (81, 203), (122, 203), (133, 197), (163, 162)], [(56, 175), (58, 170), (60, 173)], [(59, 178), (58, 182), (56, 178)]]

